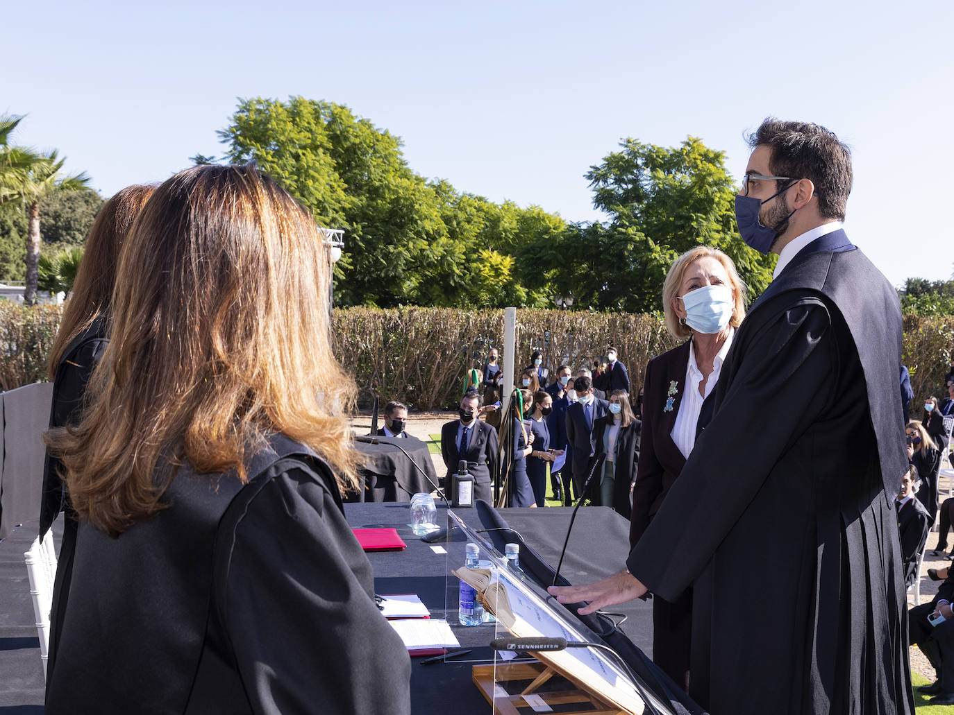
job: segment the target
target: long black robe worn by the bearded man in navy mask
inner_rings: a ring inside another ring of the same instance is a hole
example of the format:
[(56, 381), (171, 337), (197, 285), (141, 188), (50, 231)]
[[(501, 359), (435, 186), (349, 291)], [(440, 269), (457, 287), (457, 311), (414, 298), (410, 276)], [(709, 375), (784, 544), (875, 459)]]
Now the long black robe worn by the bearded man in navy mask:
[(713, 419), (627, 561), (665, 599), (694, 585), (690, 694), (713, 715), (914, 710), (901, 337), (897, 294), (842, 231), (736, 333)]

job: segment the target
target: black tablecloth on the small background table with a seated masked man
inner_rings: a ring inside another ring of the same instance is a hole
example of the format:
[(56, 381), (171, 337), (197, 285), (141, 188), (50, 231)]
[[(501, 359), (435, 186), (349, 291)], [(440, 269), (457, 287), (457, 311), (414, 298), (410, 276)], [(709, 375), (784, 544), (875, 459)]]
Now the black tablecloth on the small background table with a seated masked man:
[[(364, 491), (354, 501), (411, 501), (411, 497), (419, 492), (434, 490), (434, 486), (411, 462), (414, 460), (431, 482), (437, 484), (434, 463), (423, 441), (413, 437), (378, 439), (379, 444), (355, 443), (362, 458)], [(395, 446), (398, 443), (410, 459)]]

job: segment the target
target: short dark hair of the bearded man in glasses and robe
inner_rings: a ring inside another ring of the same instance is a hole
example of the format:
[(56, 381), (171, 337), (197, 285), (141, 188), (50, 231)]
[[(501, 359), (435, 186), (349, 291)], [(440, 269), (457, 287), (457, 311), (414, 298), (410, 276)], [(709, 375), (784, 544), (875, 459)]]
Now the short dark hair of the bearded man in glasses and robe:
[(844, 220), (851, 193), (851, 152), (835, 133), (818, 124), (768, 117), (746, 139), (753, 149), (772, 150), (769, 171), (773, 175), (812, 180), (819, 194), (820, 215)]

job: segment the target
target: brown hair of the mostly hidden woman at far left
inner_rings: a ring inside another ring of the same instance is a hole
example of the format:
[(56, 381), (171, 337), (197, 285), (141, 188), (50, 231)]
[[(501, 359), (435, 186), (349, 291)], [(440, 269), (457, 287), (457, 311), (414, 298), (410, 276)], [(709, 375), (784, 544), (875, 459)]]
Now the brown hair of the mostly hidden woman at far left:
[(86, 236), (83, 259), (73, 280), (73, 292), (66, 301), (63, 319), (50, 350), (47, 372), (51, 380), (56, 378), (56, 368), (73, 339), (87, 330), (96, 318), (109, 317), (119, 250), (135, 216), (154, 191), (155, 186), (127, 186), (99, 208)]

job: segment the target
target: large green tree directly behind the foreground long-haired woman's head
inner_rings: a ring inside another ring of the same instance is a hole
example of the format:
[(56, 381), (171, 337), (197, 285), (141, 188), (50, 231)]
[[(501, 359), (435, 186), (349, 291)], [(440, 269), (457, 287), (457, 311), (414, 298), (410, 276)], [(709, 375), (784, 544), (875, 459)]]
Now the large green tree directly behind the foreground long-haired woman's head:
[[(545, 278), (526, 270), (518, 254), (530, 240), (561, 231), (559, 216), (426, 180), (407, 166), (398, 137), (348, 108), (302, 97), (245, 99), (219, 136), (229, 161), (255, 161), (320, 224), (345, 230), (335, 266), (338, 304), (546, 303)], [(196, 164), (215, 160), (193, 157)]]

